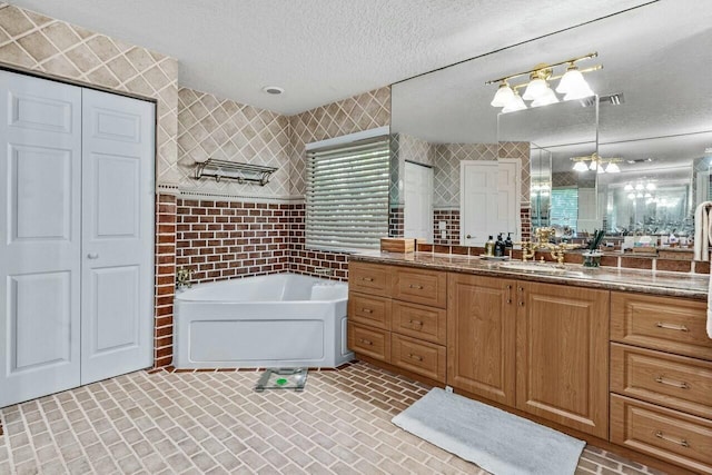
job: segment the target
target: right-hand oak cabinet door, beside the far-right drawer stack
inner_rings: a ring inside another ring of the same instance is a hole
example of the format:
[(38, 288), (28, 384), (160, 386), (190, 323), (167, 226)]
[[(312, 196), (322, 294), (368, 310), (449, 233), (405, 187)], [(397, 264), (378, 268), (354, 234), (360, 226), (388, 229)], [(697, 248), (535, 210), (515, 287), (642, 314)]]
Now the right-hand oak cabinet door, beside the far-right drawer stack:
[(516, 406), (609, 435), (609, 291), (517, 283)]

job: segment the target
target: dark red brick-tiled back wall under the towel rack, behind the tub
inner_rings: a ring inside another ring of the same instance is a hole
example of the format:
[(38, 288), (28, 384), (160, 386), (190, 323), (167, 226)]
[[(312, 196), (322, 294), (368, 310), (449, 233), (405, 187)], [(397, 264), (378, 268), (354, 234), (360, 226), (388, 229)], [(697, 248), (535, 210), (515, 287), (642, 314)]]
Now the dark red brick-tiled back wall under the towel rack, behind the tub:
[(194, 283), (288, 270), (290, 207), (178, 199), (176, 266)]

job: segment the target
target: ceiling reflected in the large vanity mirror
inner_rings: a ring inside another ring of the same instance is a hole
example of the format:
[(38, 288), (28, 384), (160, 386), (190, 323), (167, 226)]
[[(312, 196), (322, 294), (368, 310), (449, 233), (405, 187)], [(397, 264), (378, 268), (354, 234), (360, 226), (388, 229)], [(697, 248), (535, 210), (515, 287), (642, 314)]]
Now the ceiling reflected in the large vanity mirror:
[[(624, 96), (621, 106), (601, 106), (602, 156), (652, 157), (645, 168), (660, 168), (689, 165), (712, 147), (711, 133), (695, 133), (712, 130), (712, 1), (699, 0), (661, 0), (397, 83), (393, 130), (431, 142), (493, 142), (497, 132), (504, 140), (547, 148), (595, 140), (595, 121), (583, 126), (575, 115), (556, 110), (571, 108), (563, 102), (501, 116), (505, 126), (497, 130), (500, 109), (490, 106), (496, 86), (485, 85), (591, 51), (599, 57), (581, 66), (603, 65), (586, 75), (592, 89)], [(662, 136), (672, 137), (645, 140)], [(555, 169), (571, 168), (567, 159), (555, 164)]]

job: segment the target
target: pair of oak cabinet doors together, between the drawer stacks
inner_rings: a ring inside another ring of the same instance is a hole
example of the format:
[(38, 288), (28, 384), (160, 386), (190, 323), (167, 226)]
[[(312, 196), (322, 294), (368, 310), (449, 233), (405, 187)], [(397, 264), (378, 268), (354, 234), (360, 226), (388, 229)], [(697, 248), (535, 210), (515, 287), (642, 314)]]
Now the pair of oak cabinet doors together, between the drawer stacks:
[(449, 274), (447, 383), (607, 438), (609, 291)]

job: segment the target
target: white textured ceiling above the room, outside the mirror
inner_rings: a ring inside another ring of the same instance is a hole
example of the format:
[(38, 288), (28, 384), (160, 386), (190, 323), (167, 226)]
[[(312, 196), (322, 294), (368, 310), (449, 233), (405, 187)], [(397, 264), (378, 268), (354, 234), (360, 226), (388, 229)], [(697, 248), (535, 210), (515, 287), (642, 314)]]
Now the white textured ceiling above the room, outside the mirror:
[[(647, 0), (17, 0), (170, 55), (180, 83), (296, 113)], [(286, 92), (269, 96), (264, 86)]]

